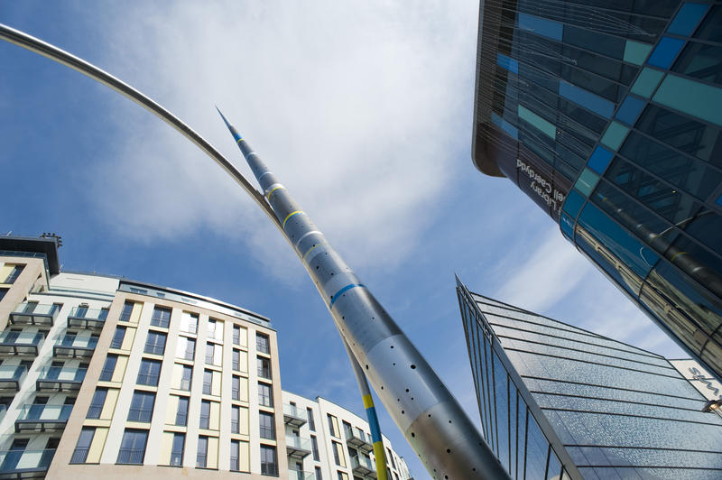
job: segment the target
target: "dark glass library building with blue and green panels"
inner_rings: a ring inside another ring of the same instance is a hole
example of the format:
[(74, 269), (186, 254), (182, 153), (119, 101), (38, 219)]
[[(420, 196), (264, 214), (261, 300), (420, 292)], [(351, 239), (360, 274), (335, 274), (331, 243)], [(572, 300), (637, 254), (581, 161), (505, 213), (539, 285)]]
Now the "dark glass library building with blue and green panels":
[(485, 0), (472, 156), (722, 376), (722, 5)]

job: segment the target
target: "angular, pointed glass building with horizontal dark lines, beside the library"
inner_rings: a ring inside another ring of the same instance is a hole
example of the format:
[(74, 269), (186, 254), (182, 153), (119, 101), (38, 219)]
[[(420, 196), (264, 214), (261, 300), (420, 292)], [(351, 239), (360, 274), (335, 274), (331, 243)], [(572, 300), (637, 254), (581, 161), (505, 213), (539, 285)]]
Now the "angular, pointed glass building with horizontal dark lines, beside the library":
[(722, 478), (722, 419), (667, 359), (457, 291), (482, 429), (513, 479)]

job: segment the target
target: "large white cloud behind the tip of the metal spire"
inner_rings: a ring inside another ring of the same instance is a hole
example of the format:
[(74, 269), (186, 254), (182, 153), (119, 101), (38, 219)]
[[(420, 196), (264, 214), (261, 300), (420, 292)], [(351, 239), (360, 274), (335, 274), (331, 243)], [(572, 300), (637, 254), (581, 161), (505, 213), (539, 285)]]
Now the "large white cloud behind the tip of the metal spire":
[[(471, 2), (140, 4), (107, 17), (99, 63), (241, 164), (218, 103), (349, 263), (392, 268), (438, 215), (452, 153), (468, 143), (476, 14)], [(218, 167), (117, 108), (125, 134), (101, 167), (112, 181), (91, 194), (120, 234), (208, 228), (245, 237), (274, 271), (286, 262)]]

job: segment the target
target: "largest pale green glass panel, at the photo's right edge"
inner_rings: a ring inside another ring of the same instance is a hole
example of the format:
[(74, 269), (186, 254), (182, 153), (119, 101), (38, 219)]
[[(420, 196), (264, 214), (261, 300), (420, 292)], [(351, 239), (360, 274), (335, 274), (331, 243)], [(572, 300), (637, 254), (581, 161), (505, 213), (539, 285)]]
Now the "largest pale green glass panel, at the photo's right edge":
[(722, 125), (722, 88), (668, 75), (653, 100), (675, 110)]

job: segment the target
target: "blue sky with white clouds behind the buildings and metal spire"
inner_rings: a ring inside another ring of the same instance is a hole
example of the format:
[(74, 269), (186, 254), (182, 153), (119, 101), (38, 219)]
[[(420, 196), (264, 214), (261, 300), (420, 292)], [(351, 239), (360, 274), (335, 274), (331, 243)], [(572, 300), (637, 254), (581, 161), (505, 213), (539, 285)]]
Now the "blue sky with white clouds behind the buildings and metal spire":
[[(505, 179), (470, 160), (478, 4), (0, 2), (0, 22), (116, 75), (252, 178), (218, 104), (478, 422), (454, 272), (479, 293), (680, 350)], [(57, 232), (65, 270), (255, 310), (282, 387), (361, 412), (286, 242), (233, 180), (112, 90), (0, 44), (0, 230)], [(254, 182), (255, 184), (255, 182)], [(428, 477), (392, 420), (382, 429)]]

